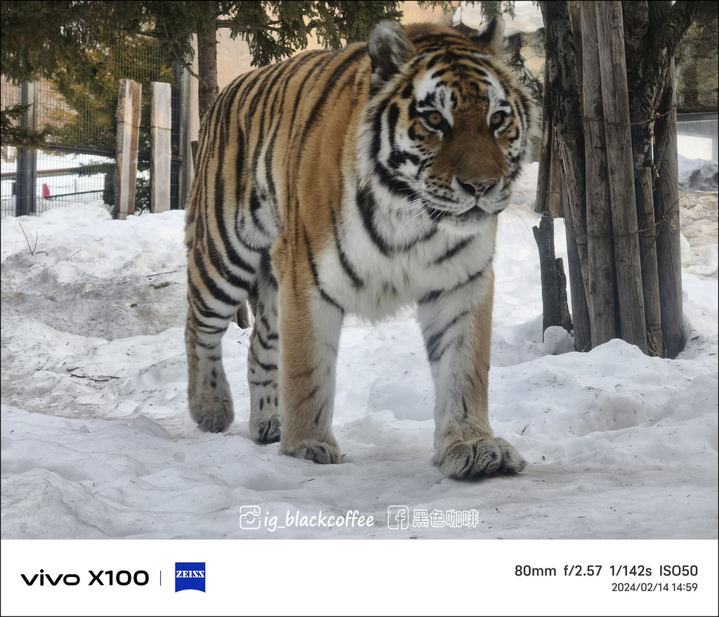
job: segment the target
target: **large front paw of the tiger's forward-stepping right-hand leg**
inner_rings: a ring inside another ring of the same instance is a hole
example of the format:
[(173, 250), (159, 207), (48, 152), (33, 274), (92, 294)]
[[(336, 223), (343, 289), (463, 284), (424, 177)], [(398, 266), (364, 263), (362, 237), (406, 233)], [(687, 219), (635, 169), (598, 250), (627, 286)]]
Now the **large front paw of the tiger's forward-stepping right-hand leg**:
[(518, 474), (527, 463), (514, 446), (497, 437), (452, 443), (444, 459), (434, 464), (446, 477), (464, 480)]

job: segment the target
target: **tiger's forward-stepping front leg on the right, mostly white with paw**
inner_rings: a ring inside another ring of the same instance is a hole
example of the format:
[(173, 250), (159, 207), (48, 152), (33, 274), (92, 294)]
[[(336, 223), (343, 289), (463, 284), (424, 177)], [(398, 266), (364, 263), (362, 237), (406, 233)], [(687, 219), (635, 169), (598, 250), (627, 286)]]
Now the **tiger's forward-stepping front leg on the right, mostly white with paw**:
[(526, 465), (489, 421), (493, 282), (487, 266), (475, 281), (418, 305), (436, 392), (432, 462), (451, 478), (516, 474)]

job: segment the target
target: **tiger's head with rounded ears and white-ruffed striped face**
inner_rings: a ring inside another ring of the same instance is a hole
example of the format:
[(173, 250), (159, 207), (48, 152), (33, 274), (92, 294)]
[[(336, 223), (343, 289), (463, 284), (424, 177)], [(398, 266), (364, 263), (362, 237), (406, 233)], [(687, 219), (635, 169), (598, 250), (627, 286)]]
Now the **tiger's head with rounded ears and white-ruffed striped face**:
[(507, 206), (535, 122), (530, 97), (498, 58), (502, 34), (500, 19), (482, 32), (387, 21), (367, 42), (359, 174), (460, 235)]

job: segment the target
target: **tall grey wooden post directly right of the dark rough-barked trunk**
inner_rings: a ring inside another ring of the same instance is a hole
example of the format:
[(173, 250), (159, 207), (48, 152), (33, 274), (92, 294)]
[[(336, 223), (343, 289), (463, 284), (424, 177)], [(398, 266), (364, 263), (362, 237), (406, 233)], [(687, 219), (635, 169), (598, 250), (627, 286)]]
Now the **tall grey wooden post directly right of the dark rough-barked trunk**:
[(593, 2), (582, 3), (582, 107), (584, 109), (587, 180), (587, 261), (592, 346), (615, 338), (615, 287), (612, 218), (609, 207), (604, 139), (602, 80)]

